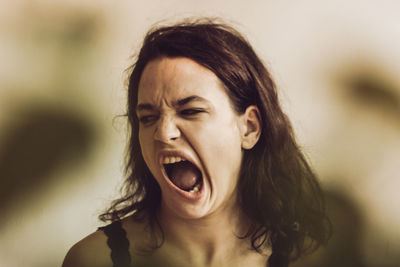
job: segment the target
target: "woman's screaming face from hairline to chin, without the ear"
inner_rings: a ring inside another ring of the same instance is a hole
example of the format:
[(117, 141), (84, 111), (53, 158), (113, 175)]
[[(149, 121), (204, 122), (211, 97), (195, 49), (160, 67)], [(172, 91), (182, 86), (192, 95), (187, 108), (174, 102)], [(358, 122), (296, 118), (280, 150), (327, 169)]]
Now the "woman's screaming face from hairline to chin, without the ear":
[(235, 204), (243, 120), (217, 76), (191, 59), (163, 57), (147, 64), (138, 90), (140, 147), (163, 211), (202, 218)]

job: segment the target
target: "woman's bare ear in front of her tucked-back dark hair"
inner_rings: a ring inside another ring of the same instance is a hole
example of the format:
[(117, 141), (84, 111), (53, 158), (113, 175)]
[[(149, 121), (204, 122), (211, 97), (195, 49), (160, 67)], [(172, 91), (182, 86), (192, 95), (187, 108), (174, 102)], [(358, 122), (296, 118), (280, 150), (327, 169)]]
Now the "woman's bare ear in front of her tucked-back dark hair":
[(242, 148), (251, 149), (261, 135), (261, 115), (257, 106), (248, 106), (246, 111), (241, 115), (240, 123)]

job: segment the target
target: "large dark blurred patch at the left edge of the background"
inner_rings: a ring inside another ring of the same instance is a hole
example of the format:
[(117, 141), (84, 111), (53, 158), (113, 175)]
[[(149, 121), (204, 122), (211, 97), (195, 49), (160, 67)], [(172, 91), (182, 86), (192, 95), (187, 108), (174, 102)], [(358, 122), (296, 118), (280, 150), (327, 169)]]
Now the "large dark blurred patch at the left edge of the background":
[(96, 138), (91, 121), (77, 112), (31, 106), (18, 115), (1, 132), (1, 222), (13, 201), (29, 199), (55, 182), (56, 171), (85, 161)]

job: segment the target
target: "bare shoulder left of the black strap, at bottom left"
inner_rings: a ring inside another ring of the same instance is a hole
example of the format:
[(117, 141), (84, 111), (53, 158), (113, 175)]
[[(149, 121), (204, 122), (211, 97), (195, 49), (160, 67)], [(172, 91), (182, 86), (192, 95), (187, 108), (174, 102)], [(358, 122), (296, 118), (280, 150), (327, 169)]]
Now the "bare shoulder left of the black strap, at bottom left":
[(62, 267), (112, 266), (110, 252), (106, 235), (96, 231), (71, 247)]

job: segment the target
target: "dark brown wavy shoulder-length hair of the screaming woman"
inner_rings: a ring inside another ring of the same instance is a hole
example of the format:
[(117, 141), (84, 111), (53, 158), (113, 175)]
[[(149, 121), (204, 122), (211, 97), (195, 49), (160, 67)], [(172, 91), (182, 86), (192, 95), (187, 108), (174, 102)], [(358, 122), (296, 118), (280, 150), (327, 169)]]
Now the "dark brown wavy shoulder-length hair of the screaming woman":
[(240, 33), (209, 19), (156, 27), (146, 35), (130, 68), (130, 140), (123, 196), (99, 218), (115, 221), (133, 214), (139, 219), (145, 214), (152, 224), (156, 222), (161, 191), (141, 154), (135, 111), (143, 70), (160, 57), (190, 58), (211, 70), (225, 85), (238, 114), (250, 105), (260, 110), (261, 136), (252, 149), (244, 151), (237, 185), (241, 209), (251, 221), (243, 238), (249, 238), (258, 252), (272, 246), (270, 267), (288, 266), (326, 243), (330, 223), (323, 194), (280, 107), (270, 73)]

